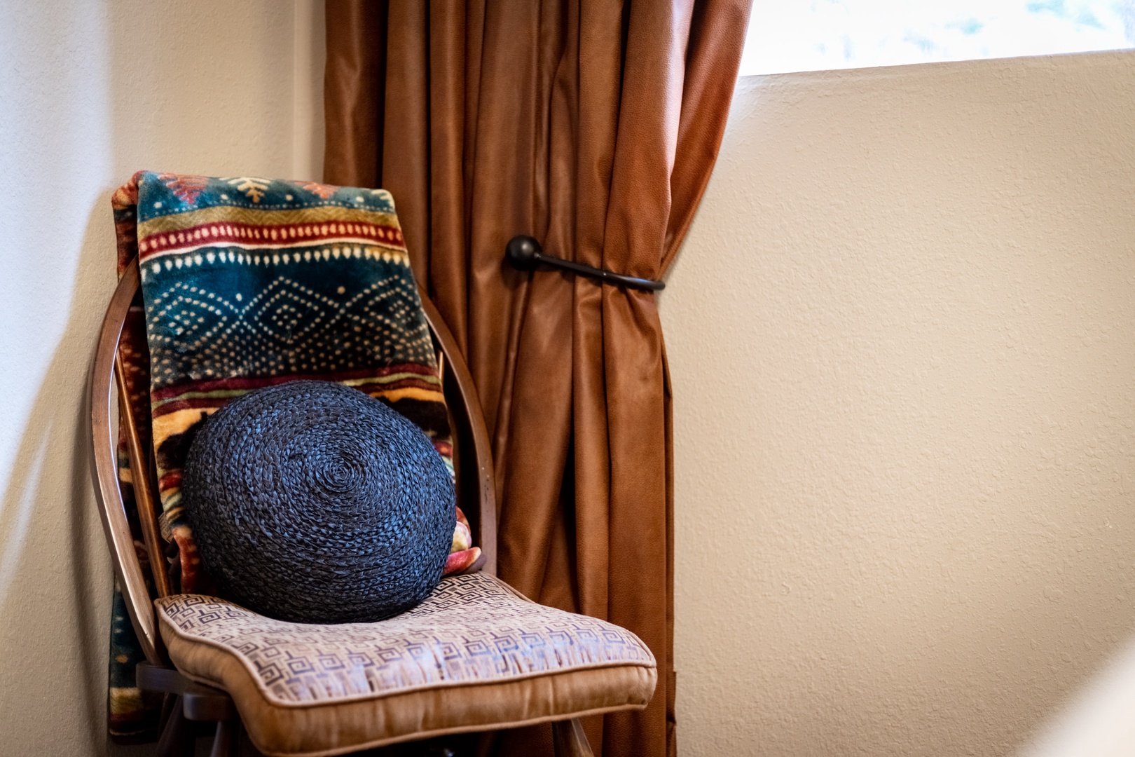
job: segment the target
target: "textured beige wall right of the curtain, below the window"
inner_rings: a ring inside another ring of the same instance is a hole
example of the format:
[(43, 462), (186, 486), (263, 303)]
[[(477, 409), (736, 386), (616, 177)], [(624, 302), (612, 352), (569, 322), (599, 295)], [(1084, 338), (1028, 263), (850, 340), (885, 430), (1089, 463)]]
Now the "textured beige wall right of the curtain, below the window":
[(1135, 633), (1135, 53), (742, 79), (662, 314), (680, 748), (1004, 755)]

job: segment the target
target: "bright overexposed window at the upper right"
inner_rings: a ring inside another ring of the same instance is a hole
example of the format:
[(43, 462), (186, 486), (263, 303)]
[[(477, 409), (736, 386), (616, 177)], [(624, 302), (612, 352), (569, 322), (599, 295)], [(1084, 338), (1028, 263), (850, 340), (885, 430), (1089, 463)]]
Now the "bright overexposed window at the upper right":
[(755, 0), (741, 75), (1135, 47), (1135, 0)]

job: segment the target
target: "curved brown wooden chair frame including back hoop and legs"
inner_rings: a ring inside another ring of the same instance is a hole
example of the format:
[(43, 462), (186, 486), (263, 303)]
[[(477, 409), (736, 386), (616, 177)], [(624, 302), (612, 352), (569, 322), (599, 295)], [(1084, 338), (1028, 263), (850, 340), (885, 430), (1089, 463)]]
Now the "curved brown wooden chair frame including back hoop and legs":
[[(155, 519), (157, 487), (152, 478), (152, 456), (149, 449), (143, 448), (129, 403), (125, 402), (126, 384), (118, 351), (126, 316), (137, 295), (138, 285), (138, 264), (135, 259), (123, 274), (118, 288), (110, 298), (95, 347), (90, 382), (93, 455), (91, 470), (95, 498), (126, 608), (145, 655), (146, 662), (137, 667), (137, 684), (142, 689), (166, 695), (158, 754), (186, 754), (185, 750), (191, 749), (193, 743), (190, 722), (210, 721), (217, 723), (212, 755), (224, 757), (236, 754), (235, 745), (241, 727), (236, 708), (226, 692), (184, 678), (166, 656), (118, 483), (116, 462), (118, 439), (116, 424), (112, 422), (116, 412), (119, 413), (119, 422), (126, 432), (132, 483), (138, 503), (138, 520), (154, 586), (159, 596), (167, 596), (171, 590)], [(449, 407), (457, 502), (470, 519), (474, 542), (481, 547), (485, 555), (481, 570), (495, 575), (496, 489), (489, 437), (480, 401), (477, 398), (472, 376), (457, 350), (457, 343), (445, 326), (440, 313), (424, 293), (421, 293), (421, 300), (439, 352), (443, 387)], [(553, 729), (557, 755), (583, 757), (591, 754), (578, 720), (554, 723)]]

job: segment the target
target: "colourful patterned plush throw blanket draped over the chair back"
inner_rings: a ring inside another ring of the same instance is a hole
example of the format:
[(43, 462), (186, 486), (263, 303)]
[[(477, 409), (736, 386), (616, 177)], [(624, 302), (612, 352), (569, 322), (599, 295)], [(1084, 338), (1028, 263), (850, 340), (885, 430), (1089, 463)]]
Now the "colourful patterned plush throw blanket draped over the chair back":
[[(111, 202), (119, 272), (140, 263), (121, 356), (140, 432), (153, 444), (177, 590), (210, 589), (180, 502), (190, 444), (210, 413), (252, 389), (353, 386), (417, 423), (452, 471), (432, 340), (388, 192), (142, 171)], [(118, 459), (129, 491), (124, 444)], [(459, 510), (445, 572), (479, 558)], [(151, 724), (133, 688), (141, 655), (123, 608), (116, 597), (110, 723), (129, 740)]]

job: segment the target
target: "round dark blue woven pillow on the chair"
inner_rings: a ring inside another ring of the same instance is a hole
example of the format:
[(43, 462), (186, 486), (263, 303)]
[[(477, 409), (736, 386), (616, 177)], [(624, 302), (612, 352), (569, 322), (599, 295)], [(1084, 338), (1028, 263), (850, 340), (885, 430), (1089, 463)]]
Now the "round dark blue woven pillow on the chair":
[(442, 578), (453, 480), (411, 421), (358, 389), (289, 381), (213, 413), (182, 496), (225, 595), (301, 623), (368, 622), (419, 604)]

